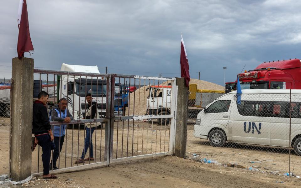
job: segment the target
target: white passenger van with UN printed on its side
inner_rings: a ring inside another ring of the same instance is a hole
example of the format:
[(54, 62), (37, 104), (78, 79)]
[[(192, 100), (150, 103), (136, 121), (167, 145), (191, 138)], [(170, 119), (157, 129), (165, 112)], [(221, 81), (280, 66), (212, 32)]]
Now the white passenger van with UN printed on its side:
[[(209, 139), (212, 146), (226, 142), (293, 147), (301, 155), (301, 90), (242, 90), (217, 98), (197, 116), (194, 137)], [(289, 117), (291, 116), (291, 141)]]

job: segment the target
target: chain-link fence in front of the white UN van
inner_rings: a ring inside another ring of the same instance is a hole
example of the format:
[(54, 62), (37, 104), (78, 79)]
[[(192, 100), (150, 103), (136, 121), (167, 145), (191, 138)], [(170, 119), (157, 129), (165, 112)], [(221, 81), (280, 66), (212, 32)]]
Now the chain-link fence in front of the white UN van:
[(193, 100), (189, 100), (187, 158), (301, 175), (301, 94), (266, 91), (242, 93), (240, 104), (236, 93), (228, 93), (202, 106), (202, 111), (192, 109)]

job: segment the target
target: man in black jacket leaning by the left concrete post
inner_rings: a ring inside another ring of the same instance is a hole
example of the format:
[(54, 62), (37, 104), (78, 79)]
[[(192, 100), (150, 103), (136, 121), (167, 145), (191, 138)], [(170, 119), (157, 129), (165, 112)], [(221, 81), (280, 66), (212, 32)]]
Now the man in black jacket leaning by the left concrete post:
[(51, 153), (51, 141), (54, 139), (51, 126), (48, 118), (46, 104), (49, 94), (41, 91), (38, 95), (38, 100), (33, 105), (32, 116), (32, 133), (39, 141), (42, 147), (42, 161), (43, 161), (43, 178), (56, 179), (57, 176), (49, 174), (49, 162)]

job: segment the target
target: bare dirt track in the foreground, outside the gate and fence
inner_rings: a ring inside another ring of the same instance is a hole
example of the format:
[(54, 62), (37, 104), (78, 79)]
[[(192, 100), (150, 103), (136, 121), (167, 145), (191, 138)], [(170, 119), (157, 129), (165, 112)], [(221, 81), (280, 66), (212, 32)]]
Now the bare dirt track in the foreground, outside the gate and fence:
[[(208, 165), (173, 156), (129, 161), (36, 180), (33, 187), (301, 187), (300, 179)], [(69, 179), (69, 180), (68, 180)], [(290, 179), (290, 180), (289, 180)], [(282, 182), (282, 183), (280, 183)]]

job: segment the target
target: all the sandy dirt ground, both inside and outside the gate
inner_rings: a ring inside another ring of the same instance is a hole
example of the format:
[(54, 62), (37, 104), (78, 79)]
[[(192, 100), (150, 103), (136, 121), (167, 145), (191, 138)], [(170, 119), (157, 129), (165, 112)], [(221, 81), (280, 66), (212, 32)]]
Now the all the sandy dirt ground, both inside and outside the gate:
[[(7, 118), (0, 118), (0, 174), (8, 173), (8, 136), (9, 126)], [(3, 123), (4, 121), (4, 123)], [(2, 122), (2, 123), (1, 123)], [(118, 130), (118, 140), (117, 140)], [(104, 132), (98, 129), (96, 132), (97, 161), (104, 161)], [(123, 134), (122, 134), (123, 132)], [(61, 152), (60, 168), (74, 166), (83, 148), (83, 129), (68, 129), (67, 144), (64, 143)], [(78, 137), (79, 135), (79, 137)], [(95, 133), (93, 134), (95, 135)], [(122, 135), (124, 138), (122, 139)], [(129, 137), (127, 136), (129, 135)], [(188, 125), (187, 133), (187, 158), (180, 159), (174, 156), (141, 159), (135, 161), (111, 164), (94, 170), (60, 174), (57, 180), (33, 180), (31, 187), (301, 187), (301, 179), (285, 177), (282, 174), (288, 172), (288, 150), (246, 147), (243, 145), (228, 145), (224, 148), (216, 148), (208, 145), (208, 141), (193, 137), (193, 125)], [(77, 144), (77, 141), (82, 140)], [(93, 137), (94, 142), (95, 137)], [(100, 142), (101, 140), (101, 142)], [(143, 140), (143, 144), (142, 144)], [(66, 145), (65, 145), (66, 144)], [(78, 149), (79, 148), (79, 149)], [(102, 148), (102, 151), (100, 151)], [(156, 126), (156, 122), (117, 122), (114, 123), (113, 157), (123, 157), (159, 153), (168, 151), (169, 127)], [(67, 150), (67, 152), (66, 152)], [(199, 156), (195, 156), (195, 155)], [(87, 155), (86, 155), (87, 156)], [(100, 156), (102, 158), (100, 159)], [(37, 172), (38, 150), (33, 152), (32, 172)], [(41, 159), (41, 157), (39, 157)], [(215, 159), (220, 163), (237, 163), (246, 168), (256, 166), (259, 172), (226, 167), (223, 165), (200, 163), (199, 159)], [(301, 175), (299, 168), (300, 157), (291, 155), (294, 174)], [(251, 164), (249, 161), (260, 160), (261, 163)], [(93, 161), (91, 161), (92, 163)], [(88, 162), (87, 162), (88, 163)], [(87, 164), (86, 163), (86, 164)], [(82, 164), (81, 164), (82, 165)], [(41, 163), (39, 164), (42, 170)], [(264, 171), (264, 172), (262, 172)], [(275, 172), (274, 175), (271, 171)], [(278, 171), (278, 172), (277, 172)], [(69, 179), (69, 180), (68, 180)], [(0, 186), (1, 187), (1, 186)]]

